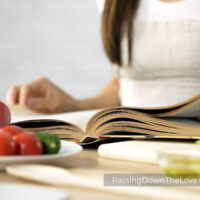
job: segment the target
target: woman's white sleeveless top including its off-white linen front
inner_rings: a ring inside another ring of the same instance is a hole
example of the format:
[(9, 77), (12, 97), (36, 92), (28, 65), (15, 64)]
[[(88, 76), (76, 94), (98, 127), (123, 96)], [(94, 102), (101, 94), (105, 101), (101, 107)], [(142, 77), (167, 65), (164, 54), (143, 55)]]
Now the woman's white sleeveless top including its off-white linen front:
[(132, 65), (118, 70), (123, 106), (164, 106), (200, 93), (200, 0), (140, 0)]

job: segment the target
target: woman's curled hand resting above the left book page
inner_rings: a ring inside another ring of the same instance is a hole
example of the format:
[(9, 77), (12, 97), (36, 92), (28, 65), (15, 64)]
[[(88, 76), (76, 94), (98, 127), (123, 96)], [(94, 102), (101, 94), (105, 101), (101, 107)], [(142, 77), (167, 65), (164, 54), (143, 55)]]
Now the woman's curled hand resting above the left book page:
[(25, 104), (30, 109), (43, 113), (77, 110), (76, 100), (44, 77), (23, 86), (10, 88), (7, 102), (10, 105)]

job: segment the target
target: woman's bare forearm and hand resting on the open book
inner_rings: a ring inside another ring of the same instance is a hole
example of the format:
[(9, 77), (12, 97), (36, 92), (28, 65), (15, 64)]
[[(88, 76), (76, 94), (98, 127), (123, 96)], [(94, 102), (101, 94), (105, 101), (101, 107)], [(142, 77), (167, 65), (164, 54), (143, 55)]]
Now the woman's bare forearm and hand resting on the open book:
[(96, 96), (77, 100), (66, 94), (48, 79), (41, 77), (23, 86), (13, 86), (7, 93), (9, 104), (25, 104), (43, 113), (99, 109), (120, 105), (119, 82), (114, 78)]

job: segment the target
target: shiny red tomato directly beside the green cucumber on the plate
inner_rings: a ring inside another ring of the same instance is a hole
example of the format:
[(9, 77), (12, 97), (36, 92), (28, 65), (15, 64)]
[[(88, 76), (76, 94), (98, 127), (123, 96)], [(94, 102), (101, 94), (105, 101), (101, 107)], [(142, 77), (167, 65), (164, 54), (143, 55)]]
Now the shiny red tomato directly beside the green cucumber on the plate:
[(18, 146), (18, 153), (20, 155), (42, 154), (42, 143), (35, 135), (24, 132), (13, 136), (13, 139)]

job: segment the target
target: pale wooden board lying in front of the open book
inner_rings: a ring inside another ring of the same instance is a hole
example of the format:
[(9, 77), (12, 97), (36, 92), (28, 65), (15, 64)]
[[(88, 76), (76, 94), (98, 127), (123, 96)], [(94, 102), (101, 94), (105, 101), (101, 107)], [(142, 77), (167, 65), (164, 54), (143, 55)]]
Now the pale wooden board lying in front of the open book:
[(197, 144), (165, 141), (125, 141), (102, 144), (98, 153), (103, 158), (158, 164), (158, 152), (170, 149), (196, 148)]

